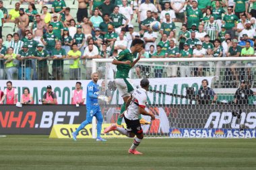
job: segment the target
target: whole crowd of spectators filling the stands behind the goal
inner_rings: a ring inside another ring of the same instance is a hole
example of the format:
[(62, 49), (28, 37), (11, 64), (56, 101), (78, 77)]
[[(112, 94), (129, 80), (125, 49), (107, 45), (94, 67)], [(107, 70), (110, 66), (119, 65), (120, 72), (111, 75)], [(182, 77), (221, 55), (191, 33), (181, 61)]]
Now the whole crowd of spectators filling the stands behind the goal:
[[(0, 79), (18, 75), (26, 80), (61, 80), (66, 60), (69, 79), (82, 79), (82, 67), (90, 79), (92, 58), (113, 57), (135, 38), (145, 42), (141, 52), (145, 58), (255, 55), (256, 0), (20, 0), (11, 3), (9, 10), (3, 2)], [(150, 30), (154, 21), (161, 23), (159, 32)], [(18, 30), (3, 40), (2, 28), (8, 23)], [(205, 67), (216, 68), (213, 75), (218, 77), (226, 65), (234, 79), (241, 79), (236, 62), (154, 64), (153, 77), (163, 77), (164, 72), (166, 77), (204, 76)], [(253, 64), (244, 61), (241, 65), (247, 67), (243, 73), (250, 75)], [(135, 73), (138, 78), (147, 76), (152, 68), (141, 64)]]

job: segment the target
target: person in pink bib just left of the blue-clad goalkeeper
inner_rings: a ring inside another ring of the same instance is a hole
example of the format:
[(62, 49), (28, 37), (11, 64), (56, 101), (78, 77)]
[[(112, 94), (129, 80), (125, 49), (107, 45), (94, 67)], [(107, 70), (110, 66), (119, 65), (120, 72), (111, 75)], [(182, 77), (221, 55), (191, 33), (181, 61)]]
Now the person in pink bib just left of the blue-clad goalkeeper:
[(86, 94), (81, 89), (81, 85), (82, 83), (79, 81), (75, 83), (75, 89), (71, 93), (71, 104), (79, 104), (79, 105), (84, 104), (84, 100), (86, 99)]

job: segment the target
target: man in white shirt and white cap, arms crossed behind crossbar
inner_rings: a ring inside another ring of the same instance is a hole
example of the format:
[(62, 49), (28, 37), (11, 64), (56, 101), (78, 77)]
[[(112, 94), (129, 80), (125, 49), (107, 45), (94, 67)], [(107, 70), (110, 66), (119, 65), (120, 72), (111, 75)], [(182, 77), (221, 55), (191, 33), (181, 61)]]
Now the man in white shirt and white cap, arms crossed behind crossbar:
[[(193, 57), (194, 58), (202, 58), (206, 54), (206, 50), (202, 48), (202, 43), (197, 42), (196, 48), (193, 50)], [(195, 66), (197, 68), (194, 68), (194, 76), (203, 76), (203, 62), (195, 62)]]

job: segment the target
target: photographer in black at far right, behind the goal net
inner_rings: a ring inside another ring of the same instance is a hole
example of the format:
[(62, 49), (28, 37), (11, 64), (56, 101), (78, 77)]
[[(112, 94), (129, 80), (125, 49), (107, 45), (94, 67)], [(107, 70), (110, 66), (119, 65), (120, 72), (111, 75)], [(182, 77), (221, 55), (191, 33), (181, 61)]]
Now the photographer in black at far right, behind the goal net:
[(248, 88), (245, 81), (242, 80), (240, 87), (234, 94), (234, 103), (238, 105), (249, 104), (249, 96), (253, 96), (255, 94), (256, 92), (253, 92), (250, 88)]

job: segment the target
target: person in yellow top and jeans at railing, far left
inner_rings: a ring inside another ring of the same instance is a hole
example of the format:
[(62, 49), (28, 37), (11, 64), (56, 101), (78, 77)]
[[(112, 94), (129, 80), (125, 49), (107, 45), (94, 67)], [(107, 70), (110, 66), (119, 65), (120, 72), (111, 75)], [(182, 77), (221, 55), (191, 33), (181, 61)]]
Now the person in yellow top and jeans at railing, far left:
[[(8, 48), (7, 54), (5, 54), (5, 69), (6, 69), (6, 75), (8, 80), (13, 80), (13, 74), (17, 72), (17, 67), (15, 65), (15, 60), (17, 57), (16, 54), (13, 53), (13, 48)], [(17, 60), (16, 60), (17, 61)]]

